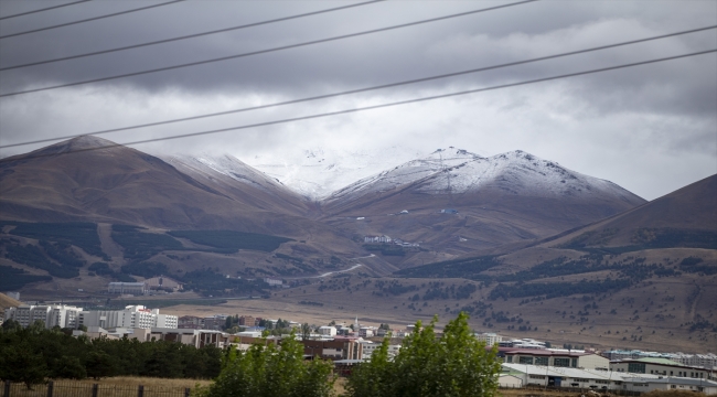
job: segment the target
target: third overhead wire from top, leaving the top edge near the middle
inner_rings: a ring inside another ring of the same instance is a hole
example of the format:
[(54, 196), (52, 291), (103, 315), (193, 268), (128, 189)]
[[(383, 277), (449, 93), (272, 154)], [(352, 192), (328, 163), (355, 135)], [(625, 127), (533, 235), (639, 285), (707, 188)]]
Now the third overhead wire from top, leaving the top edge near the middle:
[[(89, 0), (85, 0), (85, 1), (89, 1)], [(139, 47), (143, 47), (143, 46), (149, 46), (149, 45), (171, 43), (171, 42), (180, 41), (180, 40), (201, 37), (201, 36), (210, 35), (210, 34), (231, 32), (231, 31), (235, 31), (235, 30), (239, 30), (239, 29), (254, 28), (254, 26), (259, 26), (259, 25), (265, 25), (265, 24), (276, 23), (276, 22), (283, 22), (283, 21), (289, 21), (289, 20), (292, 20), (292, 19), (318, 15), (318, 14), (322, 14), (322, 13), (328, 13), (328, 12), (333, 12), (333, 11), (339, 11), (339, 10), (345, 10), (345, 9), (350, 9), (350, 8), (367, 6), (367, 4), (373, 4), (373, 3), (383, 2), (383, 1), (386, 1), (386, 0), (365, 1), (365, 2), (354, 3), (354, 4), (350, 4), (350, 6), (335, 7), (335, 8), (331, 8), (331, 9), (321, 10), (321, 11), (307, 12), (307, 13), (302, 13), (302, 14), (298, 14), (298, 15), (290, 15), (290, 17), (285, 17), (285, 18), (277, 18), (277, 19), (272, 19), (272, 20), (268, 20), (268, 21), (261, 21), (261, 22), (255, 22), (255, 23), (249, 23), (249, 24), (245, 24), (245, 25), (218, 29), (218, 30), (213, 30), (213, 31), (208, 31), (208, 32), (188, 34), (188, 35), (178, 36), (178, 37), (158, 40), (158, 41), (153, 41), (153, 42), (127, 45), (127, 46), (122, 46), (122, 47), (116, 47), (116, 49), (109, 49), (109, 50), (103, 50), (103, 51), (95, 51), (95, 52), (89, 52), (89, 53), (85, 53), (85, 54), (63, 56), (63, 57), (53, 58), (53, 60), (31, 62), (31, 63), (21, 64), (21, 65), (0, 67), (0, 72), (1, 71), (14, 69), (14, 68), (20, 68), (20, 67), (44, 65), (44, 64), (49, 64), (49, 63), (53, 63), (53, 62), (76, 60), (76, 58), (93, 56), (93, 55), (108, 54), (108, 53), (113, 53), (113, 52), (139, 49)]]

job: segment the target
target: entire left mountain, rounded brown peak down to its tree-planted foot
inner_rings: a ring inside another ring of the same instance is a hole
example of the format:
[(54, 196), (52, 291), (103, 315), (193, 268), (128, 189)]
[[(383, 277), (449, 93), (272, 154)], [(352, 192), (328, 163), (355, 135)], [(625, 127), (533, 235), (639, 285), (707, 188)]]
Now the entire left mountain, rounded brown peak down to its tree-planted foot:
[[(120, 272), (211, 264), (222, 275), (315, 275), (361, 254), (307, 217), (301, 196), (237, 159), (168, 161), (95, 137), (2, 159), (0, 272), (45, 292), (77, 291), (77, 276), (101, 290)], [(97, 261), (99, 273), (88, 268)]]

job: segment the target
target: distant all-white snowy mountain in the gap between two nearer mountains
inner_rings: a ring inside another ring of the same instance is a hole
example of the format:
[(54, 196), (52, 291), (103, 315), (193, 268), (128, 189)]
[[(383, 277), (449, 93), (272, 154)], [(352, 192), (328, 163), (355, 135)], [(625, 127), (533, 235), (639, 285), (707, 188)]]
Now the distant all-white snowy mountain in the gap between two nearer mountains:
[(246, 162), (311, 201), (403, 162), (417, 158), (402, 147), (366, 150), (301, 150), (295, 157), (256, 155)]

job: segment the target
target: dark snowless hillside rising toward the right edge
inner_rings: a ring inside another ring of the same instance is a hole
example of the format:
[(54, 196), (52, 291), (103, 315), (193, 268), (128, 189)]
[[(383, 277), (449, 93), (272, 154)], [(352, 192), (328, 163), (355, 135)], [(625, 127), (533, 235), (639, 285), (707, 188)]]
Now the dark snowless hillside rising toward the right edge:
[(279, 300), (367, 307), (374, 319), (407, 322), (464, 311), (477, 330), (556, 346), (714, 352), (717, 175), (522, 247), (312, 287)]

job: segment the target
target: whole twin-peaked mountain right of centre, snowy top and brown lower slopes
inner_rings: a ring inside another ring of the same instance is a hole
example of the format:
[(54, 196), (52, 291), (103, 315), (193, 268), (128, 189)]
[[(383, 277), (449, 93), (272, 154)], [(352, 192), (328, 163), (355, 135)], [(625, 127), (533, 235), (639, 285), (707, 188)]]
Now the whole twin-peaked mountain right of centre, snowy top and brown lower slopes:
[[(346, 233), (461, 255), (546, 237), (643, 203), (612, 182), (520, 150), (483, 158), (449, 148), (347, 185), (321, 205), (323, 219)], [(434, 261), (425, 254), (411, 260)]]

